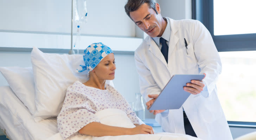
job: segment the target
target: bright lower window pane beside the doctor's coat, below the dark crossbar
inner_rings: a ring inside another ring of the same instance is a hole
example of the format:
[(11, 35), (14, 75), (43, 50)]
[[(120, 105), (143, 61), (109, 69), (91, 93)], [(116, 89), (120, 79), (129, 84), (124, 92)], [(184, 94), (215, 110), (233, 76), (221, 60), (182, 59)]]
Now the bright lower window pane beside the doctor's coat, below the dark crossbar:
[(219, 52), (218, 97), (229, 121), (256, 122), (256, 51)]

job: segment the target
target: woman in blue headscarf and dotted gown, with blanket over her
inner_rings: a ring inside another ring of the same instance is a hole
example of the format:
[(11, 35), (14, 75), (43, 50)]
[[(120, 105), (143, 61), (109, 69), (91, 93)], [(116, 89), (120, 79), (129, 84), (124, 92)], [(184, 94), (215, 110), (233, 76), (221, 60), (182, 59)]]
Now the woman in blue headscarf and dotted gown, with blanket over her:
[(80, 65), (77, 71), (88, 70), (89, 80), (85, 83), (76, 81), (68, 87), (57, 117), (63, 139), (84, 135), (104, 140), (197, 139), (184, 134), (154, 134), (151, 126), (142, 123), (126, 99), (114, 87), (105, 84), (105, 80), (115, 78), (116, 70), (114, 52), (109, 47), (93, 43), (84, 50), (83, 59), (85, 65)]

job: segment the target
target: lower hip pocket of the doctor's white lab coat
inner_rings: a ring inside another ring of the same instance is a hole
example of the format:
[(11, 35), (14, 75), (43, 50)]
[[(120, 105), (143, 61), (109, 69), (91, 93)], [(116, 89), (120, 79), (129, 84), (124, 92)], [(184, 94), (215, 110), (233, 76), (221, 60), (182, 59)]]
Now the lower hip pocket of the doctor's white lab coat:
[(197, 108), (200, 118), (205, 123), (212, 123), (213, 121), (220, 118), (222, 115), (222, 110), (219, 104), (216, 104), (213, 98), (205, 98), (201, 94), (197, 96)]

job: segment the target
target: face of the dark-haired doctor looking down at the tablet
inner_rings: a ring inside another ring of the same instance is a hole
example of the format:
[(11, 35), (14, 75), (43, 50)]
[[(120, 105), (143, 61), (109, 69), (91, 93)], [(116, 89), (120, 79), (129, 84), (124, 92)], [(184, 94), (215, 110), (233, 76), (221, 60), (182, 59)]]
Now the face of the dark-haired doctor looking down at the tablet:
[(161, 36), (165, 30), (161, 25), (160, 6), (158, 3), (155, 6), (158, 14), (154, 9), (149, 8), (147, 3), (141, 5), (136, 11), (130, 12), (130, 17), (135, 24), (151, 37)]

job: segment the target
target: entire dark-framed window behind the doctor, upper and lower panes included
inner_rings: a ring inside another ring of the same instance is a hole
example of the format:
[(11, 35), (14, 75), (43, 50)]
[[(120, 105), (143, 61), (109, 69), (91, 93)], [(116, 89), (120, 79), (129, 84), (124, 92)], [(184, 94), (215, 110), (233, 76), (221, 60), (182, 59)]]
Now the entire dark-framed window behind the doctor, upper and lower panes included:
[(256, 122), (255, 0), (192, 0), (222, 60), (218, 97), (228, 121)]

